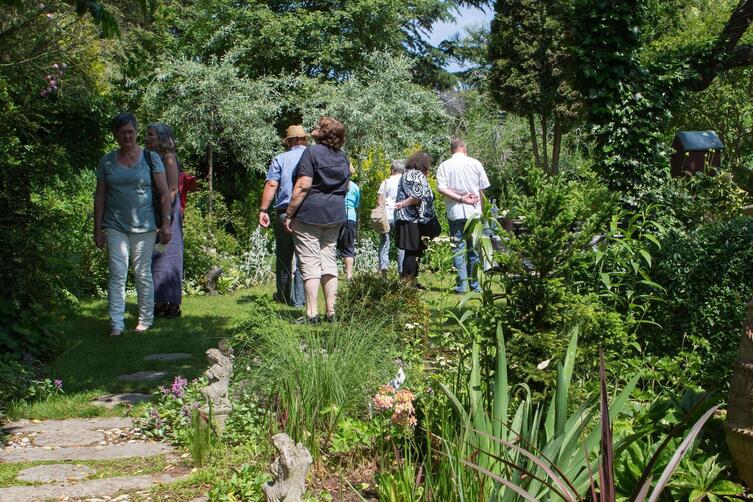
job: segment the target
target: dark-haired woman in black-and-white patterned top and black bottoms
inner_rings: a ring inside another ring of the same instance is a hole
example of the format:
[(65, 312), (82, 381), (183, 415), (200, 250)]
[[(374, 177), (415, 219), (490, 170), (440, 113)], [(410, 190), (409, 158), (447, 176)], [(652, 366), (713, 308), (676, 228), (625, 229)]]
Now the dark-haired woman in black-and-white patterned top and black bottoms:
[(415, 282), (418, 277), (418, 259), (426, 249), (419, 224), (434, 217), (434, 193), (426, 179), (431, 161), (431, 155), (423, 151), (414, 153), (408, 159), (395, 198), (397, 247), (405, 251), (400, 277), (414, 283), (419, 289), (423, 287)]

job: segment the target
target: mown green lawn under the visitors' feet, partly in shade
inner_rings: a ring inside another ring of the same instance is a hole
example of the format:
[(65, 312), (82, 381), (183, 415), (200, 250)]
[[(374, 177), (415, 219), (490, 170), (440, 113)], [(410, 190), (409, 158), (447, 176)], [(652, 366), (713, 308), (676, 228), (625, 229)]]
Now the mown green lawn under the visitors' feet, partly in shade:
[[(424, 274), (420, 281), (427, 287), (425, 299), (432, 309), (442, 311), (457, 304), (459, 297), (451, 293), (454, 277)], [(343, 281), (344, 282), (344, 281)], [(341, 284), (342, 287), (342, 284)], [(248, 304), (260, 296), (271, 296), (274, 284), (244, 289), (220, 296), (184, 297), (181, 317), (157, 319), (146, 333), (136, 334), (135, 298), (128, 298), (126, 331), (121, 337), (110, 337), (107, 301), (82, 301), (78, 311), (66, 319), (60, 354), (48, 367), (47, 376), (61, 379), (65, 394), (34, 403), (16, 403), (8, 410), (8, 418), (61, 419), (122, 415), (122, 409), (107, 410), (90, 404), (92, 399), (109, 393), (151, 393), (172, 383), (175, 376), (193, 379), (208, 367), (205, 352), (216, 347), (219, 340), (233, 333), (245, 318)], [(320, 294), (320, 311), (324, 300)], [(278, 306), (278, 315), (293, 320), (301, 310)], [(174, 362), (145, 361), (149, 354), (185, 352), (190, 359)], [(152, 382), (123, 382), (119, 375), (137, 371), (165, 371), (167, 375)]]

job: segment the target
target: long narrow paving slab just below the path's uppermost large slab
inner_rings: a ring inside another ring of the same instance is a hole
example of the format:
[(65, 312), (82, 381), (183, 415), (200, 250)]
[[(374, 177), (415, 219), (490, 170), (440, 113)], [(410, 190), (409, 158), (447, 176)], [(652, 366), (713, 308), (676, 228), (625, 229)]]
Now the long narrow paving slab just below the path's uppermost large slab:
[[(66, 448), (15, 448), (0, 451), (0, 462), (36, 462), (41, 460), (109, 460), (129, 457), (154, 457), (171, 453), (173, 448), (163, 443), (141, 441), (107, 446), (71, 446)], [(0, 500), (3, 500), (0, 497)]]

